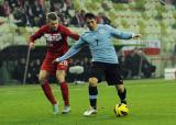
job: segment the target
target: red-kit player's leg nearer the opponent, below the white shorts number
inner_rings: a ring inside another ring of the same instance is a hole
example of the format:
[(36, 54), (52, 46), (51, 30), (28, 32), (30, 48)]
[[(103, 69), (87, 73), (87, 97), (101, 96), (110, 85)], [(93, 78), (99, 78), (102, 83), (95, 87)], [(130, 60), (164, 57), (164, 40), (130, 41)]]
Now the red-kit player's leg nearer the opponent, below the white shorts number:
[(57, 65), (57, 70), (56, 70), (56, 78), (61, 87), (63, 100), (64, 100), (64, 110), (63, 114), (68, 113), (70, 111), (69, 107), (69, 91), (68, 91), (68, 86), (66, 82), (66, 70), (68, 68), (68, 61), (62, 61), (61, 64)]

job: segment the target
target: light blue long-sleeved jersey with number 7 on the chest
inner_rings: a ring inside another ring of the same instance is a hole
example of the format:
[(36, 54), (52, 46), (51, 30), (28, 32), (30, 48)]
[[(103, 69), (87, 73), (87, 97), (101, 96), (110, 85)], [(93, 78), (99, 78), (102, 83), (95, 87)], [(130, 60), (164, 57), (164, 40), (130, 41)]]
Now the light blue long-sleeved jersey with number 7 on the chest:
[(95, 31), (85, 32), (79, 41), (64, 56), (57, 58), (57, 60), (63, 61), (74, 56), (85, 44), (88, 44), (92, 61), (119, 64), (112, 38), (130, 39), (133, 33), (122, 32), (110, 25), (98, 24)]

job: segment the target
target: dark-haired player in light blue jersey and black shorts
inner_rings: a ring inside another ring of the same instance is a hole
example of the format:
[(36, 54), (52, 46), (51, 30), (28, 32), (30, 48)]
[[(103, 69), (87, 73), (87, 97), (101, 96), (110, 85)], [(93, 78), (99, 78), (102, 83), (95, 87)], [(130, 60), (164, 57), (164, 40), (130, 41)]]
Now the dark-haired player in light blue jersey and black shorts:
[(119, 66), (118, 54), (113, 47), (112, 38), (140, 38), (141, 35), (122, 32), (110, 25), (97, 24), (96, 16), (92, 13), (87, 13), (85, 20), (89, 31), (85, 32), (79, 41), (64, 56), (56, 58), (54, 63), (66, 60), (88, 44), (92, 56), (91, 73), (89, 77), (90, 109), (84, 112), (84, 115), (89, 116), (97, 113), (97, 84), (101, 81), (103, 75), (108, 86), (116, 87), (121, 103), (127, 104), (127, 89), (123, 87), (121, 67)]

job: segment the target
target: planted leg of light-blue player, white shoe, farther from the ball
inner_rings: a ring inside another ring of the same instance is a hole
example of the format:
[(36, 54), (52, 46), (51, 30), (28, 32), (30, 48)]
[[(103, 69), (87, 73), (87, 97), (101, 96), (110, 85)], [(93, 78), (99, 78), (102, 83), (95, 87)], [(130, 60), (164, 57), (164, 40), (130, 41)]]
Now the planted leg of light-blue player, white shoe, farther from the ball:
[(98, 82), (101, 81), (101, 75), (102, 75), (102, 65), (100, 63), (92, 63), (91, 67), (91, 75), (89, 78), (89, 103), (90, 109), (88, 109), (86, 112), (84, 112), (85, 116), (89, 116), (91, 114), (97, 113), (97, 95), (98, 95)]

